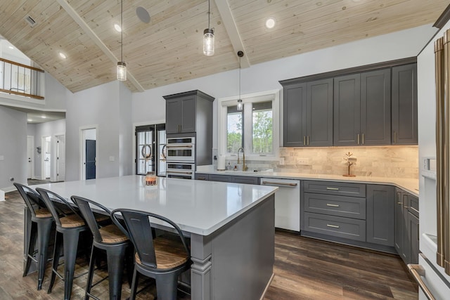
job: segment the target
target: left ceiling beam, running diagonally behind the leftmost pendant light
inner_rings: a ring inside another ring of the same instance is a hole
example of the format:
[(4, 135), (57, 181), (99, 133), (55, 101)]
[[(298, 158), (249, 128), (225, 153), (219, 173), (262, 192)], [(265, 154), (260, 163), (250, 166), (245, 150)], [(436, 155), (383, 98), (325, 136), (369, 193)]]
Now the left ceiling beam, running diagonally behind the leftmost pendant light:
[[(93, 30), (91, 30), (91, 27), (89, 27), (89, 25), (87, 25), (86, 22), (84, 22), (84, 20), (78, 15), (75, 9), (72, 8), (70, 4), (68, 4), (68, 1), (66, 0), (56, 0), (56, 1), (58, 1), (58, 4), (62, 8), (64, 8), (64, 10), (79, 25), (79, 27), (81, 27), (82, 30), (86, 32), (87, 36), (90, 37), (92, 41), (94, 41), (94, 43), (98, 46), (98, 48), (100, 48), (101, 51), (105, 53), (105, 56), (108, 56), (108, 58), (113, 63), (117, 63), (119, 61), (118, 58), (115, 57), (114, 53), (111, 52), (110, 49), (105, 44), (103, 44), (103, 41), (97, 36), (97, 34), (95, 34)], [(145, 89), (143, 89), (143, 86), (141, 86), (139, 81), (137, 81), (136, 78), (133, 76), (133, 74), (129, 72), (129, 69), (127, 69), (127, 80), (131, 81), (133, 86), (136, 87), (138, 91), (141, 92), (145, 91)]]

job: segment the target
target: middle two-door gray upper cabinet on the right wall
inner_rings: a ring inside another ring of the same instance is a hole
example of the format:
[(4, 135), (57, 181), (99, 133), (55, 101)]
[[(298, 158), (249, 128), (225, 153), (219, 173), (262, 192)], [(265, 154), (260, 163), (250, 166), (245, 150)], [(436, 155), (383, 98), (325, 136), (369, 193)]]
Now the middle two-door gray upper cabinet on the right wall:
[(390, 69), (335, 78), (334, 145), (390, 145)]

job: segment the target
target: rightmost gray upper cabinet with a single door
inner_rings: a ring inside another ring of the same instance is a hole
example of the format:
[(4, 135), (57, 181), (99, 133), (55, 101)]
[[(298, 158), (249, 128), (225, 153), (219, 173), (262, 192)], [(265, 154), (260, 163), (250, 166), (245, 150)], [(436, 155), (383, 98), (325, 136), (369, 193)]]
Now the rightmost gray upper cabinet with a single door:
[(392, 144), (417, 145), (417, 64), (392, 67)]

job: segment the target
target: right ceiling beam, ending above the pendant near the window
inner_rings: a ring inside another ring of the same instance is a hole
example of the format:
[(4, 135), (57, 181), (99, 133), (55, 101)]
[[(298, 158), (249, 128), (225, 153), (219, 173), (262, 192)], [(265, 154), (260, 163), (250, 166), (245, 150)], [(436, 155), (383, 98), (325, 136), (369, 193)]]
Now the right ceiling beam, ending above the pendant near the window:
[(214, 2), (216, 3), (217, 9), (219, 10), (222, 22), (224, 22), (225, 30), (230, 38), (231, 45), (234, 49), (234, 54), (236, 55), (236, 59), (239, 60), (238, 51), (243, 51), (244, 53), (244, 56), (240, 61), (240, 67), (250, 67), (250, 60), (248, 59), (247, 52), (245, 52), (244, 44), (242, 42), (242, 39), (240, 38), (238, 27), (236, 26), (233, 14), (231, 13), (228, 0), (214, 0)]

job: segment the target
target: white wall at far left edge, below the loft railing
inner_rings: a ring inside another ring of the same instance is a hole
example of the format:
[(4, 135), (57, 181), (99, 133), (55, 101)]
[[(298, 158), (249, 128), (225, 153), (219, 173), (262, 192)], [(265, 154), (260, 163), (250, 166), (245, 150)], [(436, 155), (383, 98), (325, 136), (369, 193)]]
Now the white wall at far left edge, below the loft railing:
[(0, 106), (0, 189), (27, 183), (27, 114)]

